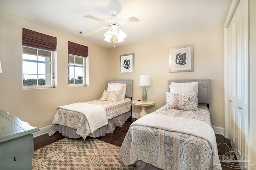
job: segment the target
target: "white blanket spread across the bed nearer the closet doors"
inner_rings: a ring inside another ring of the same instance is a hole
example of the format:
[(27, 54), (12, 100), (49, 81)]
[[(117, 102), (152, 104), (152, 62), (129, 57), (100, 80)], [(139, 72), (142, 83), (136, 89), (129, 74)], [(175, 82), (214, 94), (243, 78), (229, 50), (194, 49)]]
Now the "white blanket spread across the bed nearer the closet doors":
[(208, 123), (196, 119), (150, 113), (134, 121), (130, 126), (132, 125), (149, 126), (167, 131), (190, 134), (206, 139), (212, 144), (212, 147), (216, 145), (216, 137), (212, 127)]

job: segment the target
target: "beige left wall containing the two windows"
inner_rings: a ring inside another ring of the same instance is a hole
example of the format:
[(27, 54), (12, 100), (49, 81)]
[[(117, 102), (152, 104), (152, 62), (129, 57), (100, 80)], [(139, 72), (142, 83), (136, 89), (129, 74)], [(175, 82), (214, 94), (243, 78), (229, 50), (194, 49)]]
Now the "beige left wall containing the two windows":
[[(22, 90), (22, 27), (57, 37), (58, 88)], [(68, 87), (68, 41), (88, 46), (88, 87)], [(52, 123), (57, 106), (100, 98), (108, 80), (108, 49), (4, 14), (0, 14), (0, 59), (0, 109), (38, 128)]]

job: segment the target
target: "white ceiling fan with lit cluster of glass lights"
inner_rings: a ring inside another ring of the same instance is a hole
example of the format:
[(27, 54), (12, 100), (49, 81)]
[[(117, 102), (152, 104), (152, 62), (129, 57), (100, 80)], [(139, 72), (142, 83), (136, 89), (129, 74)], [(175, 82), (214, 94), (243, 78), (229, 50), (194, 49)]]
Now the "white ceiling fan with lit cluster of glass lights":
[(106, 31), (106, 33), (104, 33), (104, 36), (105, 36), (104, 40), (111, 43), (111, 38), (113, 38), (114, 43), (120, 43), (120, 42), (124, 41), (124, 38), (126, 38), (126, 36), (127, 36), (126, 33), (124, 33), (124, 31), (122, 31), (122, 29), (120, 29), (120, 25), (140, 21), (136, 17), (130, 17), (130, 18), (125, 18), (123, 20), (120, 20), (119, 18), (116, 17), (117, 16), (117, 11), (116, 10), (110, 10), (109, 14), (112, 17), (109, 18), (108, 20), (102, 20), (102, 19), (96, 18), (94, 16), (85, 15), (84, 16), (85, 18), (90, 18), (92, 20), (103, 22), (107, 26), (96, 29), (94, 31), (90, 31), (88, 33), (85, 33), (84, 35), (91, 35), (91, 34), (96, 33), (98, 31), (108, 29), (108, 31)]

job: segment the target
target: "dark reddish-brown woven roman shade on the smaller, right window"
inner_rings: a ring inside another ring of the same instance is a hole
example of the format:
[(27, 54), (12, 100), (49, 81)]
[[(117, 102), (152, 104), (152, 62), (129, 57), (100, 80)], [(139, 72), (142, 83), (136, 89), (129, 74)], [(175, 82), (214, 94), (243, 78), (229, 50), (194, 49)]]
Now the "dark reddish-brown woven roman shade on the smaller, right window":
[(88, 47), (68, 41), (68, 54), (88, 57)]

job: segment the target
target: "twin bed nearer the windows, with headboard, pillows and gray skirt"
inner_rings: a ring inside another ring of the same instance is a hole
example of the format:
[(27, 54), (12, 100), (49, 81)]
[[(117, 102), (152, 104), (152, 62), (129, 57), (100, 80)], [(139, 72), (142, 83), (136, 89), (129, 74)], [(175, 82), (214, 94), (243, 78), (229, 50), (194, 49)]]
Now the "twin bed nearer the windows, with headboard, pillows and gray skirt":
[[(113, 83), (126, 84), (123, 100), (115, 100), (114, 93), (111, 96), (107, 94), (108, 91), (104, 91), (100, 100), (59, 106), (56, 108), (49, 136), (58, 131), (66, 137), (83, 137), (85, 140), (87, 136), (104, 136), (112, 133), (116, 127), (121, 127), (131, 116), (132, 80), (108, 80), (108, 88)], [(116, 92), (114, 88), (110, 90)], [(98, 117), (93, 118), (84, 113), (89, 111), (94, 111), (92, 115), (98, 114)], [(100, 111), (102, 113), (98, 113)]]

